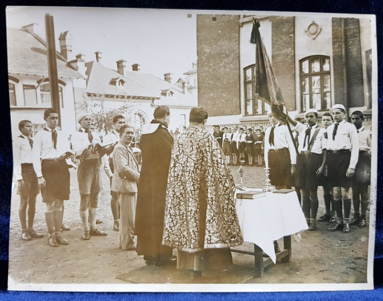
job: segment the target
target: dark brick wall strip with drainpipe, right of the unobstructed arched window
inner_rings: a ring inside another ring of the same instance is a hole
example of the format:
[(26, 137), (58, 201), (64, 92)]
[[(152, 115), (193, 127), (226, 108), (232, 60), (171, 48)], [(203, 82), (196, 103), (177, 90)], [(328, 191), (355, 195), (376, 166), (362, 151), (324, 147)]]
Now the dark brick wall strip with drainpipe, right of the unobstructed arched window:
[[(334, 103), (348, 106), (363, 106), (363, 77), (360, 49), (359, 20), (344, 18), (344, 38), (342, 36), (341, 18), (332, 19), (332, 60), (334, 74)], [(345, 53), (342, 52), (344, 41)], [(344, 55), (344, 58), (343, 58)], [(343, 59), (345, 61), (346, 84), (344, 84)]]

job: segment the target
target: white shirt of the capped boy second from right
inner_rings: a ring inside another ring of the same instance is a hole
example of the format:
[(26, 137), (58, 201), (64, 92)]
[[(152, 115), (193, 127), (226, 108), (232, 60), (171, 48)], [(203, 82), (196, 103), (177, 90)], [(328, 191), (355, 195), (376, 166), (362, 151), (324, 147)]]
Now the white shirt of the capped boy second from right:
[(359, 156), (359, 139), (356, 132), (355, 125), (342, 120), (339, 122), (336, 130), (335, 139), (332, 139), (332, 132), (334, 130), (335, 123), (330, 124), (327, 127), (327, 149), (328, 150), (340, 150), (349, 149), (351, 152), (351, 159), (349, 168), (355, 169), (355, 165), (358, 162)]

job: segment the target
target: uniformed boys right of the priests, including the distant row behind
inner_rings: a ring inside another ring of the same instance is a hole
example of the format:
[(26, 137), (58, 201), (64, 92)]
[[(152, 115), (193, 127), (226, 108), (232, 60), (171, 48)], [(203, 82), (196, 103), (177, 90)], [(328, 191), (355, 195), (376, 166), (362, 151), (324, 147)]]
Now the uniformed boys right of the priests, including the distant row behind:
[[(328, 231), (350, 231), (350, 225), (364, 227), (368, 208), (371, 166), (371, 132), (363, 126), (363, 113), (353, 111), (345, 120), (342, 104), (333, 105), (321, 117), (316, 109), (304, 113), (304, 121), (288, 123), (267, 112), (270, 127), (254, 129), (214, 126), (216, 137), (231, 165), (265, 166), (276, 189), (295, 188), (309, 230), (316, 222), (332, 224)], [(291, 124), (291, 130), (288, 129)], [(294, 145), (295, 144), (295, 145)], [(323, 187), (325, 213), (317, 218), (318, 186)], [(351, 189), (350, 189), (351, 188)], [(352, 192), (352, 193), (351, 193)], [(351, 195), (353, 218), (350, 220)], [(360, 210), (359, 210), (360, 207)]]

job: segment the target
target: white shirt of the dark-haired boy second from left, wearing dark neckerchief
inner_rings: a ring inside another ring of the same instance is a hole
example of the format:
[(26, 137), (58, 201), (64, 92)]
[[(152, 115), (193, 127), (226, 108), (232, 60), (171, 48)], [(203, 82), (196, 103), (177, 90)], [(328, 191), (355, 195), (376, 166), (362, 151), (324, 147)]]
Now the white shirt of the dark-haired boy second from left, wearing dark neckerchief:
[(47, 130), (39, 131), (35, 138), (32, 148), (33, 167), (38, 178), (42, 177), (41, 160), (58, 159), (66, 152), (71, 152), (68, 137), (61, 130), (57, 130), (57, 145), (53, 146), (52, 129), (46, 127)]

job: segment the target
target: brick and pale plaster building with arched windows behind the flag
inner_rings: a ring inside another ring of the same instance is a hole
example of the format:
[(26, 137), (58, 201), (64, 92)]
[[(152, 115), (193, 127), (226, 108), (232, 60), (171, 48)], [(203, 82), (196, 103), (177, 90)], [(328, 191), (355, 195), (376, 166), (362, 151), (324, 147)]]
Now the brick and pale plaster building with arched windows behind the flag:
[(295, 116), (307, 108), (319, 114), (334, 103), (348, 113), (361, 110), (371, 124), (371, 28), (365, 18), (328, 15), (198, 15), (198, 100), (208, 109), (208, 123), (267, 126), (268, 105), (255, 99), (255, 45), (250, 43), (257, 18), (266, 51)]

